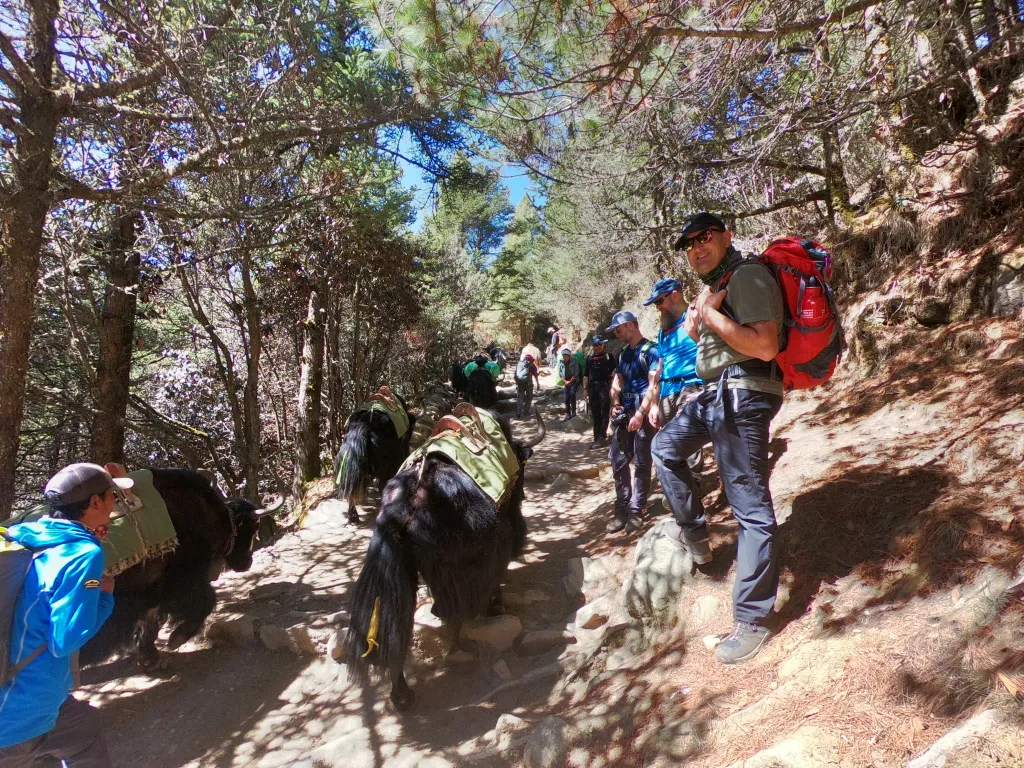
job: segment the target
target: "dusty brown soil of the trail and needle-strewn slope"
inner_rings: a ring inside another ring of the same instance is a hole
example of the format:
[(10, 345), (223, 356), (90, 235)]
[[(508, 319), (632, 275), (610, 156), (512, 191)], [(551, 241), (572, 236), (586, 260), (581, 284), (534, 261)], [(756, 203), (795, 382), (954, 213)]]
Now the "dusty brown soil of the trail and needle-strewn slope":
[[(949, 351), (966, 332), (983, 352)], [(86, 670), (81, 693), (100, 706), (125, 767), (513, 765), (521, 745), (498, 751), (488, 733), (503, 713), (528, 724), (562, 718), (572, 765), (728, 766), (801, 725), (831, 739), (829, 765), (903, 765), (978, 708), (1013, 709), (993, 675), (1024, 663), (1024, 636), (1005, 641), (1024, 611), (1006, 601), (983, 620), (975, 610), (984, 591), (976, 586), (1015, 573), (1024, 557), (1019, 329), (991, 322), (929, 333), (901, 342), (870, 377), (849, 372), (790, 397), (777, 417), (778, 636), (750, 665), (717, 666), (701, 642), (731, 626), (736, 528), (712, 472), (715, 561), (684, 600), (711, 596), (719, 607), (650, 628), (628, 664), (590, 658), (568, 683), (553, 663), (571, 669), (581, 647), (508, 651), (513, 679), (534, 672), (532, 682), (481, 700), (502, 684), (498, 658), (414, 659), (419, 706), (398, 717), (386, 686), (350, 684), (329, 656), (199, 640), (167, 654), (155, 676), (128, 658)], [(636, 542), (604, 532), (611, 479), (589, 443), (589, 433), (555, 427), (528, 467), (545, 479), (527, 483), (529, 544), (505, 587), (527, 630), (572, 629), (579, 605), (562, 587), (570, 558), (629, 555)], [(588, 466), (597, 477), (551, 488), (558, 468)], [(655, 496), (651, 520), (659, 514)], [(337, 504), (315, 505), (303, 527), (256, 554), (251, 571), (220, 578), (214, 618), (304, 626), (326, 643), (347, 607), (372, 510), (364, 519), (348, 525)], [(1017, 656), (995, 647), (1014, 642)], [(1024, 764), (1022, 755), (1000, 759), (978, 765)]]

